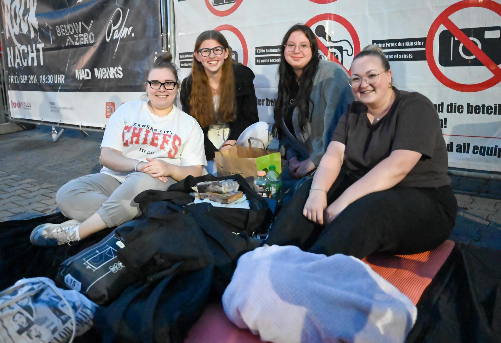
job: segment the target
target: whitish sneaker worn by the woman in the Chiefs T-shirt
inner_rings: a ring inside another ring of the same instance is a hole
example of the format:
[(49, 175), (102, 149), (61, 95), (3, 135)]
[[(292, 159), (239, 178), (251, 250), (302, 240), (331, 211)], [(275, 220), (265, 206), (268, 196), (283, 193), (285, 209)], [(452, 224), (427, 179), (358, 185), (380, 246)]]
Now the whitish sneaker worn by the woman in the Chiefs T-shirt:
[(77, 234), (78, 220), (68, 220), (61, 224), (42, 224), (37, 226), (30, 236), (33, 245), (59, 245), (80, 240)]

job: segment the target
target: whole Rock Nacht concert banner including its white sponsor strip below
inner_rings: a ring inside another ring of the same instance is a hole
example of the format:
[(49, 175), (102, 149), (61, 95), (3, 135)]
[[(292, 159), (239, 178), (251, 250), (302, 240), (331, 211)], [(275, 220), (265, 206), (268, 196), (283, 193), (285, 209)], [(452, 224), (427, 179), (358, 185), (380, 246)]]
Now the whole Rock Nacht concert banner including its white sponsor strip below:
[(158, 0), (0, 0), (16, 119), (105, 127), (161, 50)]

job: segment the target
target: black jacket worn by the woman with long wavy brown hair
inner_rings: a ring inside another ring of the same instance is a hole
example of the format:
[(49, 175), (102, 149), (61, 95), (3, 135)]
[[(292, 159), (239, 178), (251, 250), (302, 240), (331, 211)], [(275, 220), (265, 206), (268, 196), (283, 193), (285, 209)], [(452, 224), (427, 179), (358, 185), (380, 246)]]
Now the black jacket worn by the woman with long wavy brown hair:
[[(258, 105), (256, 103), (256, 92), (254, 90), (254, 73), (250, 68), (241, 64), (233, 64), (233, 75), (235, 78), (236, 95), (236, 118), (227, 123), (229, 126), (228, 140), (237, 140), (240, 134), (250, 125), (259, 121)], [(189, 100), (191, 96), (191, 75), (186, 77), (181, 84), (179, 97), (183, 111), (190, 114)], [(207, 138), (209, 127), (202, 128), (203, 143), (205, 144), (205, 157), (208, 160), (214, 159), (216, 147)]]

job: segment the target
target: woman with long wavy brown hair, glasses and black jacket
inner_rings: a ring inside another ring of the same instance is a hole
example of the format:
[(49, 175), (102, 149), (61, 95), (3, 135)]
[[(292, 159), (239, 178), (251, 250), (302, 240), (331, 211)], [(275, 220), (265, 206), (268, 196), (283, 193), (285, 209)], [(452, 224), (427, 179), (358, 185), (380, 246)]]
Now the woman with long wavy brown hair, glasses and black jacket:
[[(259, 122), (254, 73), (233, 62), (228, 42), (218, 31), (202, 32), (195, 42), (191, 75), (181, 85), (183, 111), (204, 134), (207, 172), (214, 174), (214, 153), (258, 138), (271, 140), (269, 125)], [(262, 146), (253, 142), (253, 146)]]

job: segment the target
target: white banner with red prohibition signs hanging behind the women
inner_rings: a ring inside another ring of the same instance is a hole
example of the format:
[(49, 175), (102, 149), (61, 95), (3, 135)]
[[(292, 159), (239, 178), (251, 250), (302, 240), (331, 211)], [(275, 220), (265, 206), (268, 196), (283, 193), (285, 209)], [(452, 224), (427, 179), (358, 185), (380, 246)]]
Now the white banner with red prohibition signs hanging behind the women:
[(378, 44), (394, 85), (436, 105), (449, 166), (501, 171), (501, 0), (174, 0), (174, 13), (181, 78), (196, 37), (221, 31), (256, 74), (260, 119), (269, 123), (292, 25), (310, 26), (319, 57), (348, 71), (361, 48)]

